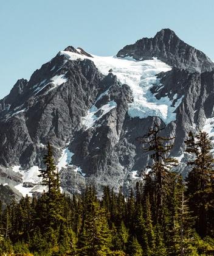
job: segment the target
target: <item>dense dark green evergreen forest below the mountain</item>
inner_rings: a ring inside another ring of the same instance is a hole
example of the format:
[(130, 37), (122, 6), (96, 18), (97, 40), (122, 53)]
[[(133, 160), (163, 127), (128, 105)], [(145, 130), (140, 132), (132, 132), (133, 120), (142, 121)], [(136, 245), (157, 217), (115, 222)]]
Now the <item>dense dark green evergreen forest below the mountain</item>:
[[(169, 157), (174, 138), (157, 126), (137, 138), (150, 152), (142, 182), (123, 195), (94, 187), (62, 194), (52, 149), (41, 170), (47, 190), (22, 197), (1, 213), (1, 255), (214, 255), (214, 171), (212, 143), (205, 132), (189, 133), (190, 172), (184, 180)], [(175, 168), (176, 169), (176, 168)]]

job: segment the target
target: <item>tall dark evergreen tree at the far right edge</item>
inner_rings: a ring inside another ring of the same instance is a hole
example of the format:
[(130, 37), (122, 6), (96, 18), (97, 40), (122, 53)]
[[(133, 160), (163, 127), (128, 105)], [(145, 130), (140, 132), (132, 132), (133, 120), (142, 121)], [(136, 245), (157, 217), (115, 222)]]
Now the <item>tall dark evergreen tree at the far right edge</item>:
[(186, 152), (192, 156), (187, 164), (192, 166), (186, 179), (187, 196), (190, 210), (196, 217), (196, 231), (202, 237), (209, 235), (209, 215), (207, 209), (212, 204), (212, 182), (213, 182), (213, 157), (211, 154), (212, 143), (206, 132), (198, 135), (189, 133), (185, 141)]

